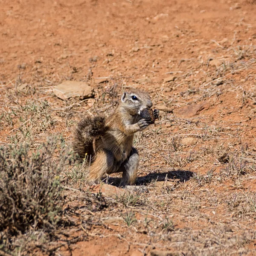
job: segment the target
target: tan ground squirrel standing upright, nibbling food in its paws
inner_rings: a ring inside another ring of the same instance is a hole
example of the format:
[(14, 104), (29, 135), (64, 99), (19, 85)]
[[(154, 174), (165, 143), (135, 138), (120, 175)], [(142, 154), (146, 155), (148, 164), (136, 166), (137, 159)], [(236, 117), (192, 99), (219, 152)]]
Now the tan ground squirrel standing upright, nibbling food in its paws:
[[(134, 134), (152, 123), (140, 116), (141, 111), (152, 105), (148, 93), (129, 88), (111, 116), (87, 116), (78, 123), (73, 149), (81, 159), (86, 154), (92, 157), (89, 183), (99, 181), (105, 174), (122, 172), (119, 187), (136, 189), (130, 186), (136, 180), (139, 164), (138, 151), (132, 146)], [(159, 111), (155, 109), (153, 114), (157, 118)]]

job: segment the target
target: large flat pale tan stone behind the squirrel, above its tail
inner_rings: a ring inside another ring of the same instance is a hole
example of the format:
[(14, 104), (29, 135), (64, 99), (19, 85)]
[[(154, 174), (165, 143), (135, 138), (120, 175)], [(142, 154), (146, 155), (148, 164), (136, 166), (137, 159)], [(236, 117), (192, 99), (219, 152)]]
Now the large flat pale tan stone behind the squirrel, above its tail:
[(62, 100), (76, 97), (79, 97), (79, 99), (85, 99), (93, 96), (93, 90), (90, 85), (86, 82), (80, 81), (64, 81), (61, 84), (58, 84), (53, 89), (53, 92)]

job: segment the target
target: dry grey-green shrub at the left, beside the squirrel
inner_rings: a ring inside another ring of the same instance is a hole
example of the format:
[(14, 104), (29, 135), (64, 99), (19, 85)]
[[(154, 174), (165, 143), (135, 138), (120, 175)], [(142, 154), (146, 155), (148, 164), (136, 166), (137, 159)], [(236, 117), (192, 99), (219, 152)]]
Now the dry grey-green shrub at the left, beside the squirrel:
[(71, 160), (59, 136), (37, 151), (29, 145), (0, 148), (0, 244), (9, 235), (55, 227), (64, 204), (59, 175)]

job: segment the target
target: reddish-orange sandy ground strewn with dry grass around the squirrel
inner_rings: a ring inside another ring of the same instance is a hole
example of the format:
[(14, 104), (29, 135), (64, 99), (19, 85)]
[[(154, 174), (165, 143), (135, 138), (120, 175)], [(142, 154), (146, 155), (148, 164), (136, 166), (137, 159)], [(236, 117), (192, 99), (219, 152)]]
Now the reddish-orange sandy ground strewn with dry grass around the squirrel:
[[(70, 176), (108, 206), (88, 208), (67, 190), (79, 223), (67, 230), (79, 239), (55, 255), (256, 255), (255, 10), (254, 0), (1, 0), (2, 145), (37, 146), (53, 132), (69, 140), (84, 114), (111, 113), (122, 85), (147, 90), (161, 110), (135, 138), (137, 183), (149, 193)], [(64, 80), (88, 82), (95, 99), (58, 99)]]

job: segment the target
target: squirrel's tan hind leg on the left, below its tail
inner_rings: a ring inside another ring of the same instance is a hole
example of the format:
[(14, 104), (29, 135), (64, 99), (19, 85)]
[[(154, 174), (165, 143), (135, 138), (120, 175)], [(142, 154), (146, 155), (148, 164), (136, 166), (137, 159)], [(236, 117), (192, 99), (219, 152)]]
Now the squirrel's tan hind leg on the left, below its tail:
[(95, 155), (95, 160), (90, 166), (88, 182), (99, 182), (102, 176), (111, 172), (113, 163), (114, 157), (110, 151), (106, 149), (98, 151)]

